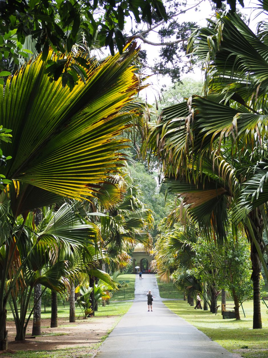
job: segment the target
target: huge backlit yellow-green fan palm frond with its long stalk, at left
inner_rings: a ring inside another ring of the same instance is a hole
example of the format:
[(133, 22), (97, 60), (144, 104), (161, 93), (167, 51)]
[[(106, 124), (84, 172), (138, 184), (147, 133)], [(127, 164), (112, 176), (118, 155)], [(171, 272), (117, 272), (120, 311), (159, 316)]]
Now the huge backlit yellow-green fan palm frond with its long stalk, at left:
[[(0, 247), (6, 252), (0, 285), (0, 349), (6, 338), (10, 294), (10, 290), (8, 295), (5, 293), (5, 282), (24, 225), (14, 227), (14, 220), (20, 214), (26, 220), (31, 209), (63, 196), (93, 198), (99, 183), (120, 170), (124, 163), (120, 149), (126, 140), (118, 135), (140, 115), (134, 110), (124, 111), (142, 88), (131, 67), (137, 55), (135, 45), (128, 45), (122, 55), (108, 57), (100, 66), (90, 60), (85, 68), (85, 83), (79, 81), (70, 92), (61, 86), (61, 80), (50, 82), (46, 76), (51, 56), (59, 60), (64, 57), (50, 50), (45, 61), (39, 55), (10, 76), (5, 89), (0, 86), (0, 122), (8, 124), (13, 135), (12, 145), (2, 145), (3, 152), (12, 159), (1, 166), (1, 175), (13, 183), (6, 188), (10, 207), (6, 199), (1, 203), (1, 212), (5, 217), (8, 214), (8, 219), (2, 217), (7, 224), (0, 237)], [(69, 65), (75, 66), (75, 61)], [(4, 187), (6, 184), (2, 190)]]

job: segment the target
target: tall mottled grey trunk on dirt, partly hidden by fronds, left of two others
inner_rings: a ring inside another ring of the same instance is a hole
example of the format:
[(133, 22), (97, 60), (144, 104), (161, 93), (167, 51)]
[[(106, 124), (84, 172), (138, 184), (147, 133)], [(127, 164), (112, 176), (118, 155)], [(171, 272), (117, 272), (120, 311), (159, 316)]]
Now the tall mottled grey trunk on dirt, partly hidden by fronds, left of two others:
[[(42, 211), (41, 209), (35, 210), (35, 226), (38, 226), (42, 221)], [(41, 274), (41, 270), (39, 271)], [(34, 286), (34, 313), (33, 313), (33, 329), (32, 335), (40, 335), (41, 334), (41, 284), (37, 284)], [(40, 297), (40, 298), (39, 298)]]

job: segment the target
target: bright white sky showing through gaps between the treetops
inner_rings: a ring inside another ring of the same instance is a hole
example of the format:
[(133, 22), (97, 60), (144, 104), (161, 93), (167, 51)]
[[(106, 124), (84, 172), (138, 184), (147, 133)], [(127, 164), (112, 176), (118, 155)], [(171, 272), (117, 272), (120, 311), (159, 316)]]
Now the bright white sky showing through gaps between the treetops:
[[(190, 8), (194, 4), (199, 3), (198, 0), (187, 1), (187, 8)], [(250, 28), (255, 31), (256, 24), (258, 21), (267, 19), (268, 15), (265, 13), (259, 14), (259, 10), (255, 8), (258, 6), (258, 2), (256, 0), (244, 0), (244, 8), (241, 8), (241, 12), (246, 15), (247, 19), (249, 19)], [(240, 6), (239, 6), (240, 7)], [(258, 15), (259, 14), (259, 15)], [(199, 10), (195, 11), (194, 9), (187, 11), (184, 15), (180, 15), (181, 21), (196, 21), (198, 26), (205, 26), (207, 24), (206, 18), (209, 18), (213, 15), (213, 11), (211, 10), (211, 5), (208, 0), (204, 0), (199, 5)], [(151, 33), (148, 39), (152, 42), (159, 42), (157, 33)], [(147, 49), (148, 54), (148, 62), (152, 62), (155, 58), (158, 58), (158, 47), (151, 46), (148, 44), (141, 43), (142, 49)], [(182, 79), (185, 77), (193, 77), (196, 80), (202, 79), (202, 73), (199, 68), (195, 68), (193, 73), (182, 74)], [(163, 84), (169, 86), (171, 84), (171, 80), (168, 76), (162, 77), (153, 75), (150, 77), (149, 82), (152, 83), (152, 86), (148, 87), (146, 90), (141, 92), (142, 96), (147, 96), (147, 101), (151, 104), (155, 102), (155, 97), (159, 97), (158, 91)]]

